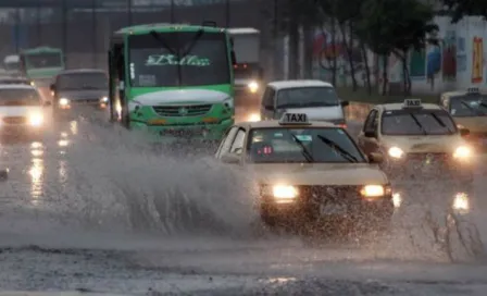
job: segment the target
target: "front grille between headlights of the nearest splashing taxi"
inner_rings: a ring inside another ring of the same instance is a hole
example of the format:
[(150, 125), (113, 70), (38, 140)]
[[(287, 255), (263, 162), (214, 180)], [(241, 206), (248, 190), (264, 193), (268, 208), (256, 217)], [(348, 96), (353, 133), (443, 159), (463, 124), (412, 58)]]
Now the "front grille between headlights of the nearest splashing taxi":
[(309, 185), (299, 186), (299, 194), (308, 201), (357, 201), (361, 186), (355, 185)]

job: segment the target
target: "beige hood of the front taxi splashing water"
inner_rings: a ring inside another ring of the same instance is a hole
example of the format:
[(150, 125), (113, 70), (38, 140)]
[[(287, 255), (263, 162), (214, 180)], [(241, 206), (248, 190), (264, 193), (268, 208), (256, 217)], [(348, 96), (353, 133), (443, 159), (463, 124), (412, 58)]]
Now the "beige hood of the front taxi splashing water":
[(387, 184), (386, 174), (369, 163), (252, 163), (249, 169), (263, 184), (364, 185)]

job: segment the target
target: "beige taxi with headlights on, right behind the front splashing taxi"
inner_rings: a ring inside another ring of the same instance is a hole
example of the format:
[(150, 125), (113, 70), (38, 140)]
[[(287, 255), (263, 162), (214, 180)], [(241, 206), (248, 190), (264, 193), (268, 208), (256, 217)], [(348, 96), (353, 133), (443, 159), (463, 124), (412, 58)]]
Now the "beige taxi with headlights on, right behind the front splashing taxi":
[[(464, 196), (473, 183), (473, 149), (462, 137), (469, 133), (440, 106), (405, 99), (375, 106), (358, 143), (365, 153), (384, 156), (380, 168), (394, 183), (445, 181)], [(395, 193), (400, 194), (397, 184)]]

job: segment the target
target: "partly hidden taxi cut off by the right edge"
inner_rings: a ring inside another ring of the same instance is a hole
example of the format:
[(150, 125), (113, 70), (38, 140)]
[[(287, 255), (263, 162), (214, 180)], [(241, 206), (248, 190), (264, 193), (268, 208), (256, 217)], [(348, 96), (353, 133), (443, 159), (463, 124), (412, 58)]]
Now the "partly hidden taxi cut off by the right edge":
[(465, 137), (478, 151), (487, 151), (487, 92), (478, 87), (466, 90), (444, 92), (444, 107), (461, 128), (469, 128)]

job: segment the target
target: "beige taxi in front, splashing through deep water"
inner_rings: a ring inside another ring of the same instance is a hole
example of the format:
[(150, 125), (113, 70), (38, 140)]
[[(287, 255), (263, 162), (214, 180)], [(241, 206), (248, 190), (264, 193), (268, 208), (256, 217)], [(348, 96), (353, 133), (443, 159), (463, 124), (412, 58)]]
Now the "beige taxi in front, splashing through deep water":
[(215, 155), (253, 172), (260, 213), (270, 226), (338, 222), (345, 229), (377, 230), (395, 211), (382, 156), (365, 156), (348, 132), (305, 113), (230, 127)]

